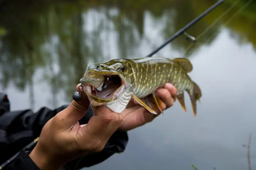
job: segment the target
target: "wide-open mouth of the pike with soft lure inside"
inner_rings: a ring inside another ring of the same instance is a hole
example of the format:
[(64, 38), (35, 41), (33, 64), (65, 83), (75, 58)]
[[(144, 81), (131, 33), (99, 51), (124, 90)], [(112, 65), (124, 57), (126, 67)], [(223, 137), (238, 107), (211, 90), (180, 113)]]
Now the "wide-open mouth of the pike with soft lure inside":
[[(92, 73), (84, 75), (84, 79), (92, 77)], [(91, 82), (84, 83), (84, 91), (91, 99), (99, 102), (115, 100), (125, 89), (125, 81), (115, 72), (96, 72)], [(89, 78), (88, 78), (89, 79)]]

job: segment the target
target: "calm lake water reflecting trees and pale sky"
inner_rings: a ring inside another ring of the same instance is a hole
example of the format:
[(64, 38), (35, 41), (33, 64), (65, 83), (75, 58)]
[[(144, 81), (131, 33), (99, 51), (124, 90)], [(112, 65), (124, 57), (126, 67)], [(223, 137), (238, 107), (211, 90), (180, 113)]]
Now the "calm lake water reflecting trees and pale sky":
[[(89, 62), (92, 68), (144, 57), (215, 2), (6, 4), (0, 9), (0, 91), (8, 94), (12, 110), (68, 104)], [(188, 30), (195, 37), (206, 30), (196, 44), (180, 36), (154, 55), (191, 60), (189, 75), (203, 95), (197, 117), (186, 93), (187, 114), (176, 102), (129, 131), (124, 153), (89, 169), (192, 170), (194, 164), (199, 170), (245, 170), (242, 145), (250, 133), (256, 169), (256, 3), (244, 8), (247, 2), (227, 0)]]

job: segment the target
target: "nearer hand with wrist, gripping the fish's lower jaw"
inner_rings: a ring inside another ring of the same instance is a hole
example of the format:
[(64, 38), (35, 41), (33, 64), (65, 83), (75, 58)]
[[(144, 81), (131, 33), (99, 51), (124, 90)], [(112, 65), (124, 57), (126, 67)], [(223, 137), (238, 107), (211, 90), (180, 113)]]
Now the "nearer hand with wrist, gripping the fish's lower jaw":
[(78, 120), (85, 115), (89, 104), (87, 96), (83, 95), (81, 101), (73, 100), (68, 108), (44, 125), (36, 147), (29, 154), (41, 170), (61, 169), (69, 160), (104, 148), (123, 115), (99, 106), (94, 108), (94, 115), (87, 124), (79, 125)]

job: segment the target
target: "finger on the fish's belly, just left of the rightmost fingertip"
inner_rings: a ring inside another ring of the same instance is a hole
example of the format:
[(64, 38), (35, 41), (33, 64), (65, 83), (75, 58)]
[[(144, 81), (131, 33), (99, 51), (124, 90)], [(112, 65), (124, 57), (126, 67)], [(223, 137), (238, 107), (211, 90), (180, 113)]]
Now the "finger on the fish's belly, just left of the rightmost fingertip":
[[(173, 105), (173, 98), (172, 98), (172, 95), (171, 93), (167, 90), (167, 89), (164, 89), (164, 88), (159, 88), (156, 90), (156, 95), (158, 95), (161, 100), (164, 102), (160, 104), (160, 107), (163, 108), (163, 109), (166, 109), (168, 107), (171, 107)], [(165, 104), (165, 108), (163, 107), (163, 104)]]

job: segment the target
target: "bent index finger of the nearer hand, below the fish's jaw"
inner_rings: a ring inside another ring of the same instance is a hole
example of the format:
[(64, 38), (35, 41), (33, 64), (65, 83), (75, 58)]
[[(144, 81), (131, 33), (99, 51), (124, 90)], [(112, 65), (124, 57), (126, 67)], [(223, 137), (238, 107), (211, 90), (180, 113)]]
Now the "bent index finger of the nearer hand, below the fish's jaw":
[(104, 106), (95, 107), (94, 111), (87, 125), (81, 128), (82, 134), (86, 134), (83, 135), (86, 138), (100, 138), (106, 141), (123, 121), (123, 115)]

